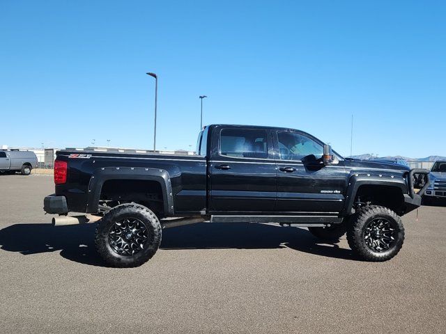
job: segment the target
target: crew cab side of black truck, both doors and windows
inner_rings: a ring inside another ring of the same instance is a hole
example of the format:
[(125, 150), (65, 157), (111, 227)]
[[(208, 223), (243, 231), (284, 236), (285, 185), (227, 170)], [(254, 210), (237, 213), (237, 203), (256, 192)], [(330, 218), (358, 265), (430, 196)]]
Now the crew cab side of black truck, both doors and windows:
[(341, 212), (344, 159), (332, 152), (333, 160), (324, 164), (324, 144), (314, 136), (268, 127), (215, 125), (210, 129), (210, 214), (309, 218)]

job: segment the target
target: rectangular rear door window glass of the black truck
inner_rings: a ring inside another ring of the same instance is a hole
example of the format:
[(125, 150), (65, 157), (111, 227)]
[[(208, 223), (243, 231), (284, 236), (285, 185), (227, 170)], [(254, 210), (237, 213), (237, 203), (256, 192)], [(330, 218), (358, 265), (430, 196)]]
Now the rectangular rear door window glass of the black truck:
[(220, 154), (234, 158), (268, 158), (266, 131), (222, 129)]

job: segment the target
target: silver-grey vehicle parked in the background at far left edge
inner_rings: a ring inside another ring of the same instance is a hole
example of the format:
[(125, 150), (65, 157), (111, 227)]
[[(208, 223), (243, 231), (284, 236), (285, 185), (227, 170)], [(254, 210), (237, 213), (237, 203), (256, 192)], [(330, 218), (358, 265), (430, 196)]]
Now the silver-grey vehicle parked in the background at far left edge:
[(30, 175), (37, 166), (37, 157), (31, 151), (0, 150), (0, 173), (20, 172)]

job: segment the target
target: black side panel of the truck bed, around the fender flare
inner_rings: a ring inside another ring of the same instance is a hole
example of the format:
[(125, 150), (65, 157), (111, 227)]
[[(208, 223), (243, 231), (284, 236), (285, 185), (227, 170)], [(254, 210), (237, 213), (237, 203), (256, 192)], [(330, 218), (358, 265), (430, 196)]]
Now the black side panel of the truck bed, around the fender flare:
[[(111, 154), (82, 152), (89, 158), (69, 158), (58, 152), (57, 159), (68, 161), (66, 184), (56, 185), (56, 195), (66, 196), (70, 211), (87, 212), (89, 183), (98, 168), (157, 168), (166, 170), (171, 181), (175, 214), (196, 214), (206, 207), (206, 159), (204, 157), (162, 156), (157, 154)], [(137, 176), (134, 178), (138, 179)]]

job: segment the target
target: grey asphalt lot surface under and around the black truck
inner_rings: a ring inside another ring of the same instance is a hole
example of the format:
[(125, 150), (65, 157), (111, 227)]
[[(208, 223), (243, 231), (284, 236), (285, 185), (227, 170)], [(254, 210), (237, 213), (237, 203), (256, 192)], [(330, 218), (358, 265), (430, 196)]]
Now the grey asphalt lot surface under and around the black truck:
[(1, 333), (445, 333), (446, 207), (403, 217), (390, 262), (345, 238), (200, 224), (136, 269), (104, 267), (93, 226), (52, 228), (47, 175), (0, 176)]

